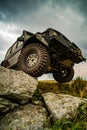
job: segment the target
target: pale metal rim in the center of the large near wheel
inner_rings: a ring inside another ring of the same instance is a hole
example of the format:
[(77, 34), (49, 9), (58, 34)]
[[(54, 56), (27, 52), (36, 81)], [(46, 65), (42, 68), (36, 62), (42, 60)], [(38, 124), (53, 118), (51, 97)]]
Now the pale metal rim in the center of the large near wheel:
[(28, 57), (27, 57), (27, 65), (29, 67), (33, 67), (37, 64), (38, 62), (38, 55), (37, 54), (30, 54)]

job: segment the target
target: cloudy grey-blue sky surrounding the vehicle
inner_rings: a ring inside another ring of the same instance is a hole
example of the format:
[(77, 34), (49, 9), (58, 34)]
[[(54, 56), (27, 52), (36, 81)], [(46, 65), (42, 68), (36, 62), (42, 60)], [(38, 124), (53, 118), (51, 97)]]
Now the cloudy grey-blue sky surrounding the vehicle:
[[(87, 58), (86, 0), (1, 0), (0, 62), (23, 30), (42, 32), (54, 28), (76, 43)], [(75, 67), (75, 77), (87, 78), (87, 63)], [(51, 78), (45, 75), (42, 78)]]

